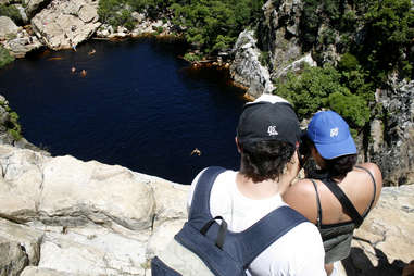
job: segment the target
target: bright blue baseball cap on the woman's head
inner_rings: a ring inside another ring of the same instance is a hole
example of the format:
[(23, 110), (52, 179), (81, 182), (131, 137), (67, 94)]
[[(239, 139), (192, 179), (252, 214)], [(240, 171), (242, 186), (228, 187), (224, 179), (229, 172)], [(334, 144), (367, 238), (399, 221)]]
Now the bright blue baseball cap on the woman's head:
[(317, 112), (308, 125), (308, 137), (324, 159), (356, 154), (347, 122), (334, 111)]

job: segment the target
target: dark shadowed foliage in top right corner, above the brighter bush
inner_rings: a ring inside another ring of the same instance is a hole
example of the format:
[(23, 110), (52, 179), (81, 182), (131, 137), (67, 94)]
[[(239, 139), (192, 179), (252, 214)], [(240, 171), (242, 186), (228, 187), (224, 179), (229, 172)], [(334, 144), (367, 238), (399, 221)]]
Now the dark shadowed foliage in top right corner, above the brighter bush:
[[(319, 32), (322, 25), (324, 32)], [(340, 34), (339, 41), (331, 36), (335, 33)], [(299, 38), (304, 51), (313, 51), (314, 57), (322, 57), (318, 51), (326, 45), (338, 43), (339, 53), (352, 53), (369, 72), (365, 83), (377, 87), (396, 71), (401, 77), (414, 77), (411, 0), (303, 0)]]

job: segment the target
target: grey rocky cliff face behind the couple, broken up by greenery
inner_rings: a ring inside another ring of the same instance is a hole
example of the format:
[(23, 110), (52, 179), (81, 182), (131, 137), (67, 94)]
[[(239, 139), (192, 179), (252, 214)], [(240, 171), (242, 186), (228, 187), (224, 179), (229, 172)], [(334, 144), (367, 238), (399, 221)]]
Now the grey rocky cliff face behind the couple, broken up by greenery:
[[(318, 65), (336, 64), (340, 59), (338, 52), (346, 46), (339, 42), (339, 34), (327, 35), (326, 24), (318, 27), (317, 41), (327, 36), (333, 37), (331, 41), (318, 42), (312, 49), (303, 46), (300, 34), (303, 9), (301, 0), (268, 0), (259, 26), (239, 35), (230, 73), (250, 97), (269, 92), (276, 79), (288, 72), (300, 72), (304, 64), (316, 66), (312, 57), (318, 59)], [(363, 43), (362, 33), (357, 29), (347, 36)], [(381, 111), (359, 137), (364, 141), (360, 158), (380, 166), (386, 186), (398, 186), (414, 183), (414, 80), (390, 76), (387, 87), (377, 89), (375, 101)], [(277, 93), (277, 87), (273, 92)]]

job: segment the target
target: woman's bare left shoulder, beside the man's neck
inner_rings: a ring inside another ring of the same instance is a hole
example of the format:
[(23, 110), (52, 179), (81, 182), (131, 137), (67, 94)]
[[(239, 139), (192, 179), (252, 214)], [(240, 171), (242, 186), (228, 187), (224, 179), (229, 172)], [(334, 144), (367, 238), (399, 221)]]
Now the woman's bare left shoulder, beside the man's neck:
[(316, 191), (310, 179), (301, 179), (290, 186), (283, 195), (286, 203), (315, 223), (317, 217)]

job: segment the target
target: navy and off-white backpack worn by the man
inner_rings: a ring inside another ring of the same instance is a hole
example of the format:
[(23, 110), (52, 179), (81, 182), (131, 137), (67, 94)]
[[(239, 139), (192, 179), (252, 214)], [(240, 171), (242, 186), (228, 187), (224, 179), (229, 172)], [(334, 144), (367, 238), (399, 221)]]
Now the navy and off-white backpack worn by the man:
[[(208, 167), (197, 184), (188, 222), (158, 256), (151, 260), (152, 276), (246, 275), (250, 263), (304, 216), (281, 206), (241, 233), (227, 230), (221, 216), (210, 213), (210, 192), (222, 167)], [(221, 221), (221, 224), (217, 223)]]

